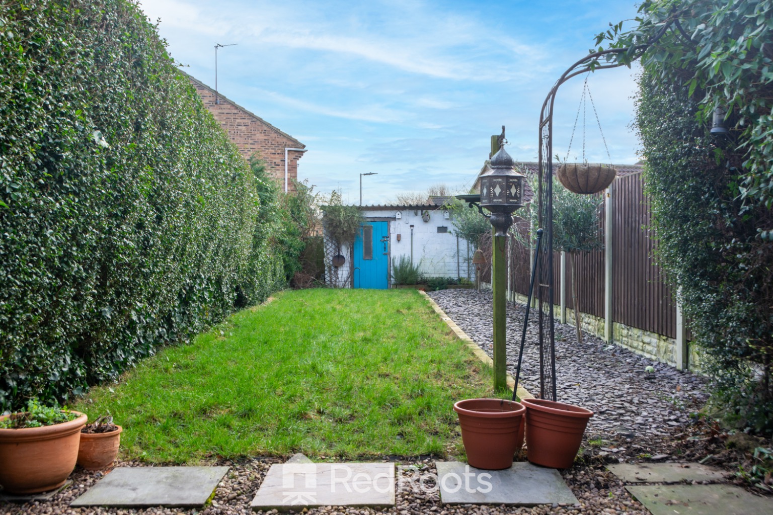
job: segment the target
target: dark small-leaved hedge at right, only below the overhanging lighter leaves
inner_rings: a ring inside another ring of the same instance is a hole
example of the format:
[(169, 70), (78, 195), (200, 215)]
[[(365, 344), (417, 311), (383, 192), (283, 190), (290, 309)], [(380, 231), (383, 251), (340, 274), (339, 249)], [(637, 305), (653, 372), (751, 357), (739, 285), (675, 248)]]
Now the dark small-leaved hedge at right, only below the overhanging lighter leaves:
[(769, 213), (761, 205), (744, 208), (741, 156), (714, 147), (685, 86), (648, 71), (641, 88), (637, 122), (657, 259), (679, 286), (693, 341), (705, 351), (713, 400), (725, 402), (728, 418), (769, 433), (773, 245), (756, 229)]

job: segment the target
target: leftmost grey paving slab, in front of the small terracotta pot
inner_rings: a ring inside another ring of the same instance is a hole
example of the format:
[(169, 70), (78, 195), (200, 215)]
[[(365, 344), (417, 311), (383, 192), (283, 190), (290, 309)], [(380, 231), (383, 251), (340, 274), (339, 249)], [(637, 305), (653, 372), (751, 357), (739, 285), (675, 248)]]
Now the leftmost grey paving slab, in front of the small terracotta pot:
[(226, 466), (118, 467), (70, 507), (199, 508), (226, 472)]

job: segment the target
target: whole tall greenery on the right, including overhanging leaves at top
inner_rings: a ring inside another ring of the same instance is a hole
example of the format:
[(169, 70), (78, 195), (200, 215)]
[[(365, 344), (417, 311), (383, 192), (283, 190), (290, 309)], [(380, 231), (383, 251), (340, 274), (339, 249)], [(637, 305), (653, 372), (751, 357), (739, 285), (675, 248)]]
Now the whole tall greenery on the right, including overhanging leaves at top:
[[(637, 125), (659, 261), (679, 288), (714, 399), (773, 433), (773, 0), (645, 0), (597, 42), (642, 57)], [(710, 137), (715, 108), (730, 137)]]

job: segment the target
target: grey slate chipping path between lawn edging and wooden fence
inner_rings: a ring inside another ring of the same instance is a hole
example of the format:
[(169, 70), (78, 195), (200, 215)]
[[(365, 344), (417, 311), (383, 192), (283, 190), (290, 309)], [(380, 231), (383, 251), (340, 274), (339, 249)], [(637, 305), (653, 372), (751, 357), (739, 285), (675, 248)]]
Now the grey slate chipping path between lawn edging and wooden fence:
[[(492, 293), (441, 290), (429, 293), (448, 317), (486, 353), (492, 355)], [(507, 362), (513, 377), (520, 347), (525, 307), (507, 306)], [(520, 382), (535, 395), (540, 389), (538, 326), (532, 310), (523, 352)], [(607, 447), (618, 457), (669, 453), (674, 435), (690, 425), (708, 398), (704, 378), (677, 371), (601, 338), (584, 334), (577, 343), (574, 326), (556, 324), (557, 399), (591, 409), (585, 440), (623, 437), (625, 446)], [(655, 368), (647, 374), (645, 368)], [(602, 455), (604, 456), (604, 455)]]

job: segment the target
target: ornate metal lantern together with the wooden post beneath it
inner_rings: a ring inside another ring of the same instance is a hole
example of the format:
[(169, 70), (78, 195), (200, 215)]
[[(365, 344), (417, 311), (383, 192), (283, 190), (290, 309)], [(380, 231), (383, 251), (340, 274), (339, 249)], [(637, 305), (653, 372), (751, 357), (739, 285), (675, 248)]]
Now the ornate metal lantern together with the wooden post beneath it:
[[(494, 293), (494, 389), (507, 388), (507, 337), (506, 337), (506, 249), (507, 231), (512, 225), (512, 213), (523, 207), (523, 181), (525, 176), (513, 166), (510, 154), (505, 151), (505, 127), (499, 136), (499, 151), (491, 158), (491, 170), (481, 175), (479, 195), (457, 195), (472, 208), (478, 208), (494, 228), (492, 239), (492, 290)], [(491, 215), (483, 212), (486, 208)], [(516, 385), (517, 388), (517, 385)]]

